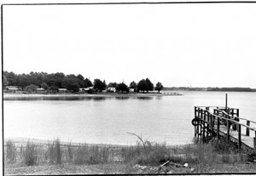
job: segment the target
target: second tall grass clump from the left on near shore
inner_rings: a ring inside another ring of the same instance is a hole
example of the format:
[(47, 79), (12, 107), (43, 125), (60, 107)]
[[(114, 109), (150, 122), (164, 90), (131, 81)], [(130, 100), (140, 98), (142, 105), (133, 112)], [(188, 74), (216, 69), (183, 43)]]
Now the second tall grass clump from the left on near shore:
[(25, 150), (22, 150), (23, 154), (23, 162), (26, 164), (26, 166), (34, 166), (37, 164), (38, 160), (38, 151), (36, 149), (36, 146), (33, 143), (30, 143), (29, 141), (26, 143)]

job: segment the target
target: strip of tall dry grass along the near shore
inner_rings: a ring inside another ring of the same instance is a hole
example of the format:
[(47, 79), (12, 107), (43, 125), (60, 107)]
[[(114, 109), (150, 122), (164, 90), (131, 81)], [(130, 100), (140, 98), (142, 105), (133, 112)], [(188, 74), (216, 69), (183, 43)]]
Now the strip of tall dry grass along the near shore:
[[(141, 136), (140, 136), (141, 137)], [(143, 142), (142, 142), (143, 141)], [(223, 142), (224, 141), (218, 141)], [(236, 154), (228, 149), (228, 144), (224, 148), (219, 145), (194, 145), (168, 146), (165, 143), (150, 143), (142, 137), (137, 145), (131, 146), (102, 146), (102, 145), (61, 145), (60, 139), (55, 139), (48, 145), (34, 145), (27, 142), (26, 146), (15, 146), (11, 140), (5, 145), (5, 166), (73, 166), (80, 168), (84, 166), (105, 166), (103, 173), (111, 173), (108, 170), (110, 165), (118, 166), (116, 169), (123, 170), (123, 173), (137, 173), (134, 168), (136, 164), (141, 166), (159, 167), (162, 163), (170, 161), (182, 166), (188, 163), (189, 167), (195, 168), (196, 173), (218, 173), (230, 170), (232, 167), (240, 166), (242, 172), (247, 167), (245, 162), (256, 159), (256, 152), (251, 151), (245, 154)], [(217, 146), (217, 147), (216, 147)], [(224, 167), (226, 170), (224, 170)], [(230, 169), (228, 169), (230, 168)], [(65, 170), (66, 168), (63, 168)], [(109, 168), (110, 170), (111, 167)], [(114, 170), (114, 169), (113, 169)], [(184, 168), (173, 168), (176, 173), (188, 173)], [(250, 167), (250, 171), (253, 168)], [(109, 172), (108, 172), (109, 171)], [(256, 168), (253, 170), (256, 171)], [(100, 173), (101, 173), (100, 172)], [(147, 173), (148, 171), (140, 171)], [(139, 173), (140, 173), (139, 172)], [(151, 172), (151, 171), (150, 171)], [(74, 172), (77, 173), (77, 172)], [(122, 172), (120, 172), (122, 173)]]

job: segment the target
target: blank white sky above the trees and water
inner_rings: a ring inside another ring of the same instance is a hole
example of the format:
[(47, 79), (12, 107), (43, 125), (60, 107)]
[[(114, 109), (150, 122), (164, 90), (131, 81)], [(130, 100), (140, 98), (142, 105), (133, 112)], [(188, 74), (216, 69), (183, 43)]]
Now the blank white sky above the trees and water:
[(3, 6), (3, 71), (256, 88), (256, 4)]

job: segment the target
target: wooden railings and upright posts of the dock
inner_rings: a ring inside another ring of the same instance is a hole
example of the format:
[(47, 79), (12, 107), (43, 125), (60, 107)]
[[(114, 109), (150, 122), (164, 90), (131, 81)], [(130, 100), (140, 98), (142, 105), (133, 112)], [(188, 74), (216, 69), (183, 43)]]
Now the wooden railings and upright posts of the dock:
[(253, 148), (256, 149), (256, 128), (252, 127), (252, 125), (256, 125), (256, 122), (239, 117), (239, 109), (218, 106), (195, 106), (195, 119), (192, 120), (192, 124), (195, 126), (195, 135), (198, 134), (198, 138), (201, 136), (206, 142), (208, 142), (209, 137), (213, 137), (213, 131), (216, 131), (217, 138), (220, 137), (220, 125), (227, 127), (227, 131), (224, 133), (227, 139), (230, 139), (230, 128), (232, 127), (234, 131), (238, 132), (239, 151), (241, 151), (242, 143), (241, 128), (245, 128), (247, 136), (250, 135), (250, 131), (253, 131)]

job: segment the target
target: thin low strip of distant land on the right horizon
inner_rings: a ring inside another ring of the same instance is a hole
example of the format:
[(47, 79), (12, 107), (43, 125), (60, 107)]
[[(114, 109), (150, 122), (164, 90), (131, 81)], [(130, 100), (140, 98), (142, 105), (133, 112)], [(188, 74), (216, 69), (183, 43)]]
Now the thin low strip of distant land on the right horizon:
[(186, 91), (221, 91), (221, 92), (256, 92), (256, 88), (191, 88), (191, 87), (172, 87), (163, 90), (186, 90)]

